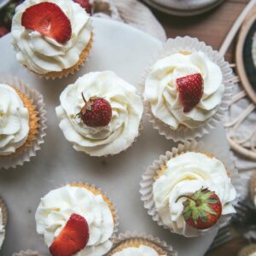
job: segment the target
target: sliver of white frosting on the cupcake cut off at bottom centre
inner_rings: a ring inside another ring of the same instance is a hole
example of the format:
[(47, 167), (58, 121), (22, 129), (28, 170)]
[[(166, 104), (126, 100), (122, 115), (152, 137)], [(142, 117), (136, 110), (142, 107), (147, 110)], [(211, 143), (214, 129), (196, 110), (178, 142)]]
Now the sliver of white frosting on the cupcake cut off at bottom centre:
[[(160, 256), (152, 247), (141, 245), (140, 247), (127, 247), (113, 256)], [(162, 255), (164, 256), (164, 255)]]

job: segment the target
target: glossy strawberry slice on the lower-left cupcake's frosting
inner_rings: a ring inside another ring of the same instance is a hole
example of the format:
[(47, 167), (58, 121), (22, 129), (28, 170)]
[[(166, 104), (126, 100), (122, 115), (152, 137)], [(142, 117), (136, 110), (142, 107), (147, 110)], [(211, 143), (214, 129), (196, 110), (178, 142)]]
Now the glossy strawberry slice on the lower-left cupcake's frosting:
[(82, 250), (89, 240), (89, 227), (84, 217), (73, 213), (55, 238), (49, 252), (53, 256), (72, 256)]

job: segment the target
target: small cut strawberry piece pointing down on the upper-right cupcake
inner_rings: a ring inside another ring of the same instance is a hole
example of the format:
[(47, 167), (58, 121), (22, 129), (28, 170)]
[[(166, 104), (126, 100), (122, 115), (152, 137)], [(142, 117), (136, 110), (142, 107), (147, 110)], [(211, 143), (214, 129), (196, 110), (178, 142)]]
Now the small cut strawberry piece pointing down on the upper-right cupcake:
[(183, 104), (183, 112), (189, 112), (201, 101), (204, 81), (200, 73), (177, 79), (177, 90)]

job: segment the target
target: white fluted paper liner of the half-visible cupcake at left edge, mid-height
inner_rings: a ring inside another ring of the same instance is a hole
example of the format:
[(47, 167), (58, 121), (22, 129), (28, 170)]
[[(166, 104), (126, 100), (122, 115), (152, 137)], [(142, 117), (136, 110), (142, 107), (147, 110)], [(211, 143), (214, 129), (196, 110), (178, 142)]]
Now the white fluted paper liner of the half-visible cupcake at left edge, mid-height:
[(41, 144), (44, 143), (44, 137), (46, 135), (46, 111), (44, 109), (43, 96), (38, 90), (27, 87), (20, 79), (11, 76), (10, 74), (0, 74), (0, 82), (15, 86), (30, 100), (32, 100), (34, 106), (38, 112), (38, 133), (37, 139), (32, 142), (32, 146), (26, 148), (20, 154), (0, 156), (0, 169), (15, 168), (16, 166), (23, 166), (25, 162), (29, 162), (32, 156), (36, 155), (36, 151), (41, 148)]

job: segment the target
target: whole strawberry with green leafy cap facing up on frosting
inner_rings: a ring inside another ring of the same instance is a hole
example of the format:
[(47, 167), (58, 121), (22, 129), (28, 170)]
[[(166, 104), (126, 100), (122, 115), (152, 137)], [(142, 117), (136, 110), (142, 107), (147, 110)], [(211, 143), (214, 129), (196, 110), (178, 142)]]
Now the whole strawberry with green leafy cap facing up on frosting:
[[(222, 205), (214, 192), (200, 189), (183, 202), (183, 218), (189, 226), (196, 230), (207, 230), (217, 223), (221, 216)], [(180, 197), (179, 197), (180, 198)]]

